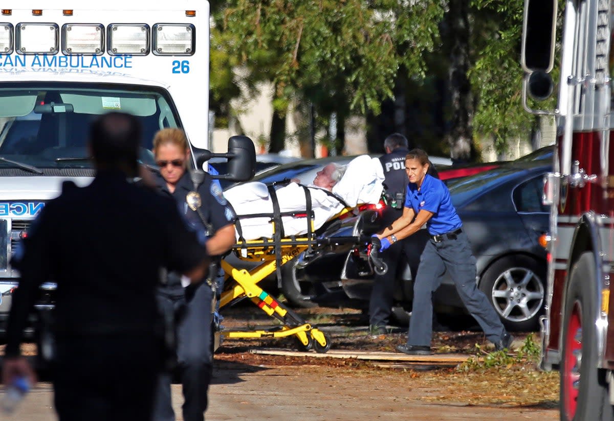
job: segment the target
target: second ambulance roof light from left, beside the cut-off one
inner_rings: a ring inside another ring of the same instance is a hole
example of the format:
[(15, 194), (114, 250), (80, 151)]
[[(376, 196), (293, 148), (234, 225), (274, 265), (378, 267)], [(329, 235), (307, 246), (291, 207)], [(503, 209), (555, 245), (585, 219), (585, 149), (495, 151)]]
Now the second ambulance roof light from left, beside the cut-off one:
[(57, 54), (60, 29), (55, 23), (18, 23), (15, 28), (18, 54)]

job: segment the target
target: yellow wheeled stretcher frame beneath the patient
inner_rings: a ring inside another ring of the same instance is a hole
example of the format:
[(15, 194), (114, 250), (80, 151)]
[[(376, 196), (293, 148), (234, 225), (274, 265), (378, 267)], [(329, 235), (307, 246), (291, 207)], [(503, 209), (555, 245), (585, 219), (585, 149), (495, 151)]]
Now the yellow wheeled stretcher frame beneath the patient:
[[(364, 206), (343, 208), (340, 213), (330, 218), (329, 222), (343, 218), (344, 215), (357, 214), (363, 209)], [(313, 349), (316, 352), (327, 352), (331, 345), (330, 336), (309, 324), (309, 322), (284, 305), (284, 303), (276, 300), (276, 298), (258, 286), (258, 283), (275, 271), (277, 271), (278, 276), (281, 276), (281, 271), (279, 270), (281, 266), (301, 254), (304, 256), (305, 254), (317, 253), (328, 246), (340, 244), (351, 244), (357, 248), (364, 249), (373, 270), (377, 273), (385, 273), (386, 265), (378, 256), (379, 241), (377, 238), (369, 236), (326, 238), (321, 235), (323, 230), (314, 230), (313, 211), (310, 209), (301, 213), (280, 213), (276, 211), (273, 214), (266, 215), (239, 215), (237, 226), (240, 227), (240, 221), (243, 218), (262, 218), (263, 216), (270, 217), (270, 223), (273, 224), (273, 238), (246, 241), (239, 235), (239, 240), (233, 247), (233, 252), (239, 259), (258, 262), (257, 266), (249, 271), (246, 269), (239, 270), (232, 267), (227, 261), (222, 260), (222, 269), (225, 273), (225, 287), (220, 297), (220, 310), (238, 300), (249, 298), (268, 316), (281, 322), (281, 325), (268, 330), (222, 330), (220, 336), (228, 339), (285, 338), (293, 336), (298, 351)], [(306, 224), (308, 224), (307, 233), (305, 235), (284, 237), (281, 224), (281, 217), (284, 216), (305, 218)]]

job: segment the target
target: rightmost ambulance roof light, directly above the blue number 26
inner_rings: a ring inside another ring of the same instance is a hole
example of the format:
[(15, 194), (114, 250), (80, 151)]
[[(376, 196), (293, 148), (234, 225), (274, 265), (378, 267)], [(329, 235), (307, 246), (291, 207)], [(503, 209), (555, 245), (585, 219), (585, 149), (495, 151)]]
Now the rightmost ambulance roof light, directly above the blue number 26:
[(191, 56), (195, 49), (194, 25), (157, 23), (152, 29), (153, 54), (160, 56)]

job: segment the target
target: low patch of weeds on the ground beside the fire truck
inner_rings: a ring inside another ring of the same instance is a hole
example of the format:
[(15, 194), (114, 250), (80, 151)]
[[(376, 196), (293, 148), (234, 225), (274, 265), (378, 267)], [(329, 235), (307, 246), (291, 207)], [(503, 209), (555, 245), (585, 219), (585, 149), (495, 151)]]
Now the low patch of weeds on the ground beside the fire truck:
[(478, 344), (475, 344), (475, 348), (476, 355), (461, 363), (457, 367), (457, 371), (499, 370), (500, 368), (511, 368), (514, 365), (534, 364), (537, 363), (540, 356), (540, 346), (533, 339), (532, 333), (524, 339), (523, 346), (516, 351), (516, 354), (510, 354), (505, 351), (487, 353)]

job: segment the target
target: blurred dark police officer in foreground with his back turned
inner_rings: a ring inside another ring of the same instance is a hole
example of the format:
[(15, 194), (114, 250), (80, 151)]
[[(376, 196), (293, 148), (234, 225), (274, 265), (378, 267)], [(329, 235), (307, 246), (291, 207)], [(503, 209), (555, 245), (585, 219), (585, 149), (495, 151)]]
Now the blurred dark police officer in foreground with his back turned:
[(90, 129), (96, 167), (84, 188), (66, 184), (15, 256), (20, 283), (7, 327), (3, 381), (36, 381), (20, 357), (41, 283), (58, 284), (54, 407), (61, 421), (150, 421), (161, 369), (160, 268), (200, 281), (208, 260), (173, 200), (129, 183), (141, 144), (134, 116), (109, 113)]

